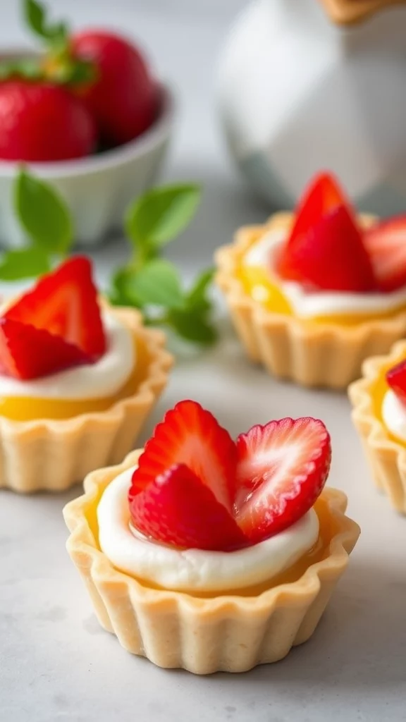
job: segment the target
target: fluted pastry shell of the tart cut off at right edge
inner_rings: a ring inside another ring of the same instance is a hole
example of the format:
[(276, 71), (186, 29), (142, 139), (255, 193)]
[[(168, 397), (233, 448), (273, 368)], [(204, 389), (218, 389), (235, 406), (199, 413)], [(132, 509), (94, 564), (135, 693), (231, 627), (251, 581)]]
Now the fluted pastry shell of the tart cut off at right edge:
[(406, 357), (406, 342), (399, 341), (387, 356), (363, 364), (363, 378), (348, 389), (353, 422), (360, 435), (376, 488), (384, 492), (397, 511), (406, 514), (406, 445), (392, 440), (373, 409), (373, 391), (381, 375)]

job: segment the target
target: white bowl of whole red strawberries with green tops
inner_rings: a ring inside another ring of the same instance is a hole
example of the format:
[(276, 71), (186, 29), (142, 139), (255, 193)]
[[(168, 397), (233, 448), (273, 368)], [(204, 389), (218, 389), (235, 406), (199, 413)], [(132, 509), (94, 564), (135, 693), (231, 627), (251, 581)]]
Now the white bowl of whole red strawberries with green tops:
[(103, 29), (71, 34), (37, 0), (24, 11), (43, 48), (0, 55), (0, 245), (23, 240), (13, 208), (22, 165), (59, 190), (77, 242), (95, 245), (155, 181), (173, 97), (130, 40)]

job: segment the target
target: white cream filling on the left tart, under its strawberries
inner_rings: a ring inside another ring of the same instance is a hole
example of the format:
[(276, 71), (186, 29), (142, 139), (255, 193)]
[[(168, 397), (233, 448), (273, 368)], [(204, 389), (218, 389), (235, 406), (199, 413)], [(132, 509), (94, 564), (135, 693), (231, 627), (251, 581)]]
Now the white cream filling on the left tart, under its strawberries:
[(112, 314), (103, 314), (103, 325), (107, 349), (98, 361), (30, 381), (0, 375), (0, 397), (32, 396), (79, 401), (113, 396), (124, 386), (134, 369), (134, 338), (131, 331)]

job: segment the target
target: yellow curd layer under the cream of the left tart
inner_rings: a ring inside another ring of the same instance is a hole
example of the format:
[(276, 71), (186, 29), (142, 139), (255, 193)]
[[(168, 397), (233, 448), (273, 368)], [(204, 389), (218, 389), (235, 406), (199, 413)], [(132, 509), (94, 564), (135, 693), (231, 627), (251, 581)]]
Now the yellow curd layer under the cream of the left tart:
[(38, 397), (26, 398), (24, 396), (0, 397), (0, 415), (13, 421), (34, 421), (38, 419), (71, 419), (82, 414), (103, 412), (110, 409), (122, 399), (132, 396), (139, 384), (147, 378), (150, 356), (141, 339), (134, 336), (135, 355), (137, 363), (121, 388), (110, 396), (101, 396), (98, 399), (80, 399), (66, 401), (59, 399), (41, 399)]

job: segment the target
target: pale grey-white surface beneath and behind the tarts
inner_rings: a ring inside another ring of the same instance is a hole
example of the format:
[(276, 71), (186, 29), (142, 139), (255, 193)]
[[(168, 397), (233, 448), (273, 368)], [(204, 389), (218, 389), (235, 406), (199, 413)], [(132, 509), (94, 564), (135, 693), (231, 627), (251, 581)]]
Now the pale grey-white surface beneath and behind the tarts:
[[(168, 178), (205, 186), (202, 210), (169, 253), (189, 275), (241, 222), (260, 221), (233, 175), (212, 105), (215, 56), (241, 0), (54, 0), (79, 22), (125, 27), (176, 79), (180, 122)], [(0, 2), (0, 42), (22, 39), (17, 3)], [(98, 251), (100, 280), (124, 256)], [(4, 289), (1, 289), (3, 291)], [(236, 434), (271, 417), (312, 414), (332, 432), (330, 482), (350, 495), (363, 529), (350, 568), (314, 638), (280, 664), (233, 677), (156, 669), (98, 627), (66, 556), (62, 496), (0, 492), (0, 722), (399, 722), (406, 720), (406, 520), (371, 486), (345, 396), (278, 384), (243, 357), (227, 322), (222, 344), (183, 353), (142, 435), (191, 396)]]

